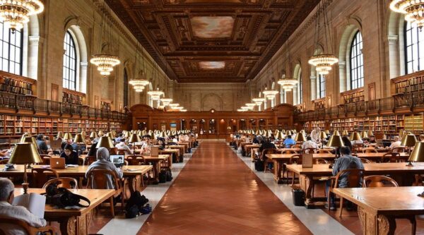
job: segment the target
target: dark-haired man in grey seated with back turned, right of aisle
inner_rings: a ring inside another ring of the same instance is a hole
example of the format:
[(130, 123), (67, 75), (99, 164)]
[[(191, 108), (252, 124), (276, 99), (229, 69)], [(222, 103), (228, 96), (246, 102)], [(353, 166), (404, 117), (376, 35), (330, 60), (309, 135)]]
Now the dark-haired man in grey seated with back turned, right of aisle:
[[(345, 169), (364, 169), (363, 163), (360, 161), (358, 157), (353, 157), (351, 149), (349, 147), (343, 146), (338, 148), (340, 151), (341, 157), (336, 159), (336, 162), (334, 162), (333, 166), (333, 176), (336, 176), (339, 171), (343, 171)], [(360, 185), (358, 187), (362, 186), (362, 180), (359, 181)], [(326, 194), (329, 195), (329, 188), (331, 186), (331, 180), (326, 181)], [(348, 186), (348, 176), (347, 174), (343, 174), (338, 177), (338, 188), (346, 188)], [(335, 200), (334, 194), (331, 194), (330, 196), (330, 210), (336, 210), (336, 205), (334, 203)], [(352, 203), (347, 202), (347, 209), (352, 209)], [(329, 207), (328, 204), (325, 205), (326, 208)]]

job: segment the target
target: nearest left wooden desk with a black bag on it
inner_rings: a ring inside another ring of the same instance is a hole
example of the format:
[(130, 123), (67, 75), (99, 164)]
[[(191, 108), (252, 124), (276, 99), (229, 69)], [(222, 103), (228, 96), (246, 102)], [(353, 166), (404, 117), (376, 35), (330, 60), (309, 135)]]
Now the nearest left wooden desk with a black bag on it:
[[(83, 195), (90, 200), (90, 206), (79, 210), (65, 210), (52, 205), (45, 207), (45, 219), (59, 222), (62, 235), (86, 235), (93, 217), (93, 209), (114, 195), (113, 189), (70, 189), (72, 193)], [(45, 193), (44, 188), (28, 188), (28, 193)], [(15, 188), (15, 196), (23, 194), (23, 188)]]

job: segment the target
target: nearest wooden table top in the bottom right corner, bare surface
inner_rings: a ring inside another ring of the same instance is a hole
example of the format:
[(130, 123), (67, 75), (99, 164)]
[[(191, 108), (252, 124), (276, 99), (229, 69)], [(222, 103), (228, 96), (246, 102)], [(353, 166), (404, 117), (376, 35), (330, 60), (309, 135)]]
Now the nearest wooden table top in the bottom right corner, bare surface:
[(424, 214), (423, 187), (334, 188), (334, 193), (379, 215)]

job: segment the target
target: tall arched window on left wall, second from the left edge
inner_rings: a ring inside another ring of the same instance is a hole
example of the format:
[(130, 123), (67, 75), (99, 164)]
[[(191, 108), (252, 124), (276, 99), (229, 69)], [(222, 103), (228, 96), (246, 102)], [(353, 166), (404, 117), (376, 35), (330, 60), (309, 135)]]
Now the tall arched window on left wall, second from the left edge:
[(69, 31), (66, 31), (64, 40), (64, 84), (69, 90), (76, 90), (76, 49), (75, 42)]

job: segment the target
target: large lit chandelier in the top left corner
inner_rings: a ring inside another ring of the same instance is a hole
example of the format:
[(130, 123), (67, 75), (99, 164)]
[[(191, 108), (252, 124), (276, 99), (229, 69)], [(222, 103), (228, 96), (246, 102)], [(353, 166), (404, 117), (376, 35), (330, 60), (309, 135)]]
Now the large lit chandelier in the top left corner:
[(0, 20), (12, 32), (23, 28), (30, 21), (30, 16), (44, 11), (39, 0), (0, 0)]

